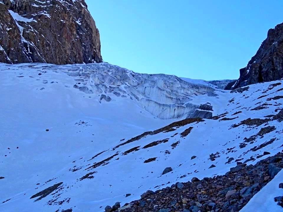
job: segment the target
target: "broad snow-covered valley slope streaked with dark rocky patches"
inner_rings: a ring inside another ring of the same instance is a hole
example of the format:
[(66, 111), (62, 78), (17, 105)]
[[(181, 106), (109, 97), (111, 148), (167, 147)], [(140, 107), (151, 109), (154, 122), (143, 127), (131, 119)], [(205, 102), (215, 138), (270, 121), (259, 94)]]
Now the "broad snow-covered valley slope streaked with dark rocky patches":
[[(213, 89), (217, 96), (211, 96), (199, 95), (211, 88), (174, 76), (152, 75), (148, 81), (148, 75), (120, 69), (1, 64), (1, 211), (104, 211), (168, 182), (224, 174), (235, 160), (254, 164), (268, 156), (264, 151), (282, 150), (281, 81), (231, 92)], [(213, 115), (223, 115), (160, 119), (142, 110), (134, 95), (163, 101), (154, 111), (178, 99), (207, 103)], [(173, 170), (162, 175), (166, 167)]]

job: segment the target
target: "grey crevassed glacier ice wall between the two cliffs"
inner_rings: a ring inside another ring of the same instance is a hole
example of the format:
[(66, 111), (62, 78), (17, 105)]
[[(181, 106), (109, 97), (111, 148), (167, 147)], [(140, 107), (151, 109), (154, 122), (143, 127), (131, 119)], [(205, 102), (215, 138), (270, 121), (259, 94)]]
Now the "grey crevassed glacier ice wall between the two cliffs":
[(75, 88), (88, 94), (100, 94), (100, 101), (129, 97), (162, 119), (189, 116), (199, 107), (189, 101), (215, 90), (174, 75), (139, 74), (108, 63), (77, 65), (66, 73), (83, 82), (76, 83)]

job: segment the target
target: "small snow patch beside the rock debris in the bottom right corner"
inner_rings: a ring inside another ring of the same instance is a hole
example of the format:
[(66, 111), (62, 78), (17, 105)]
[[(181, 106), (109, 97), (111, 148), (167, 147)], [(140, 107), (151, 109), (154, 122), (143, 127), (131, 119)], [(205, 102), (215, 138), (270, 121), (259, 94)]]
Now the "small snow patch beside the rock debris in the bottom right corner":
[(282, 211), (282, 208), (274, 201), (274, 197), (282, 196), (283, 189), (279, 188), (279, 184), (282, 183), (283, 170), (281, 170), (275, 178), (269, 182), (264, 188), (259, 191), (249, 203), (242, 208), (241, 212), (254, 211), (257, 208), (258, 211), (274, 212)]

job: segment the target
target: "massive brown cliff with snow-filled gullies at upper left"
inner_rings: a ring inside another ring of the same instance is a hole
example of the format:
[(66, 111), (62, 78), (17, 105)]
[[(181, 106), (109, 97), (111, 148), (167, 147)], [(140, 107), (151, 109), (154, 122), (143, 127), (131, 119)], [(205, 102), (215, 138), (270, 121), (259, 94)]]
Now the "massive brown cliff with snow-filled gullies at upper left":
[(102, 62), (99, 31), (84, 0), (3, 0), (0, 62)]

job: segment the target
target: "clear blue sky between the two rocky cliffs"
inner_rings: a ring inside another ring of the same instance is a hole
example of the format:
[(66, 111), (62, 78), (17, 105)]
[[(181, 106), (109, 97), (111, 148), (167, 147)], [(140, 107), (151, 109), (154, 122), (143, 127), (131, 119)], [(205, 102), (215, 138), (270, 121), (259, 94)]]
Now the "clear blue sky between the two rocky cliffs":
[(104, 62), (139, 73), (237, 79), (283, 22), (283, 1), (86, 0)]

